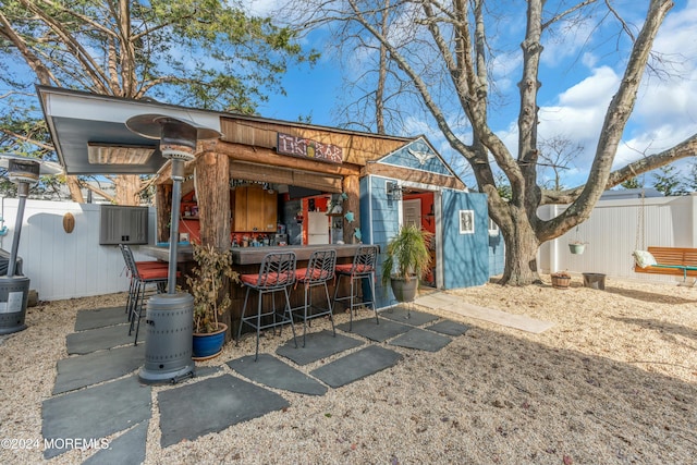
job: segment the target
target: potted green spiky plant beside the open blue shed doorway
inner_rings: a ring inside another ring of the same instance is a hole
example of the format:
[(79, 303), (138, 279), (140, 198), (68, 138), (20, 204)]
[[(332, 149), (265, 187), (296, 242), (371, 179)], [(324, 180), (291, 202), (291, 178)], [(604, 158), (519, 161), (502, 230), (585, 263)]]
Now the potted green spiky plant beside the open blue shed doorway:
[(430, 267), (428, 246), (431, 236), (430, 232), (409, 224), (402, 227), (388, 243), (387, 258), (382, 264), (382, 284), (390, 282), (398, 302), (412, 302), (416, 296), (418, 280)]

